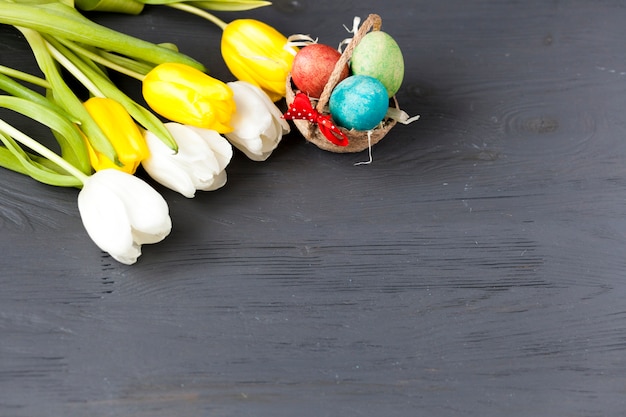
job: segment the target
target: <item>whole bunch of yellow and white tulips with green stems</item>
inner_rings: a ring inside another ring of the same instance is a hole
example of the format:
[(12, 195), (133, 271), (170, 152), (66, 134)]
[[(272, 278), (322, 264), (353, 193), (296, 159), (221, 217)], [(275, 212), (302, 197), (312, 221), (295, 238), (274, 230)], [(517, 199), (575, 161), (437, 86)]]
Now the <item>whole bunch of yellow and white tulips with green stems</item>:
[[(173, 45), (156, 45), (91, 21), (81, 10), (141, 13), (145, 4), (174, 7), (216, 23), (222, 55), (237, 81), (209, 76)], [(263, 161), (289, 125), (274, 104), (296, 48), (272, 27), (252, 19), (225, 23), (207, 10), (248, 10), (257, 0), (0, 0), (0, 23), (17, 28), (42, 76), (0, 63), (0, 106), (48, 127), (56, 153), (0, 119), (0, 166), (54, 186), (76, 187), (84, 227), (103, 251), (133, 264), (142, 244), (171, 231), (163, 197), (134, 175), (139, 166), (186, 197), (226, 183), (233, 146)], [(250, 59), (249, 57), (269, 59)], [(88, 97), (62, 76), (71, 74)], [(140, 105), (109, 76), (134, 77)], [(44, 90), (44, 92), (40, 92)]]

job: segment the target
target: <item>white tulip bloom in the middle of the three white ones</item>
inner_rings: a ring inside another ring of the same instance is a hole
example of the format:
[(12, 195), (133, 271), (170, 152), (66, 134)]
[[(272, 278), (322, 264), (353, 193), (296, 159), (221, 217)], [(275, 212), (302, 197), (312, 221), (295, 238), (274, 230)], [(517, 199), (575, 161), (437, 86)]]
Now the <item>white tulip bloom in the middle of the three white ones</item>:
[(196, 190), (216, 190), (226, 184), (226, 166), (233, 156), (230, 143), (214, 130), (166, 123), (178, 152), (166, 146), (156, 135), (144, 137), (150, 156), (142, 161), (146, 172), (160, 184), (192, 198)]

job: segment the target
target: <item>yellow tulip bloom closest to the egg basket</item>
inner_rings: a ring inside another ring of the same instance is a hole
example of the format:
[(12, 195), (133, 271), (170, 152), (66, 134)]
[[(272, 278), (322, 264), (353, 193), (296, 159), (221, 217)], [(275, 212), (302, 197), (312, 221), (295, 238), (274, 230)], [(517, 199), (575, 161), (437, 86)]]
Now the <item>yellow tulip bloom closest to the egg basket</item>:
[(272, 101), (285, 96), (285, 82), (297, 48), (287, 38), (254, 19), (237, 19), (222, 34), (222, 57), (240, 81), (260, 87)]

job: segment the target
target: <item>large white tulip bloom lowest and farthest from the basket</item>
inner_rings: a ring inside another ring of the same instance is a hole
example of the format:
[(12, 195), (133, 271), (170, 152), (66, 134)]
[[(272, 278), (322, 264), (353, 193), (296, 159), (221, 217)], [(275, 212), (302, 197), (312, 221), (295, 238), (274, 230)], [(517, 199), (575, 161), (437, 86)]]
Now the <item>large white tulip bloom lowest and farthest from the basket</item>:
[(172, 230), (169, 208), (148, 183), (116, 169), (97, 171), (78, 193), (83, 225), (100, 249), (131, 265), (141, 245), (157, 243)]

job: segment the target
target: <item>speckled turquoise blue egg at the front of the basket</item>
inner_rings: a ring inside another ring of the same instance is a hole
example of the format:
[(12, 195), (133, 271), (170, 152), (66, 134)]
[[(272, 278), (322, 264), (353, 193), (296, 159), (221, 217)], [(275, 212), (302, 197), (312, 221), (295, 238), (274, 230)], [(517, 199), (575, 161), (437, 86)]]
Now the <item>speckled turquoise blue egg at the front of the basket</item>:
[(328, 100), (328, 107), (339, 126), (370, 130), (387, 114), (389, 97), (385, 86), (376, 78), (352, 75), (337, 84)]

